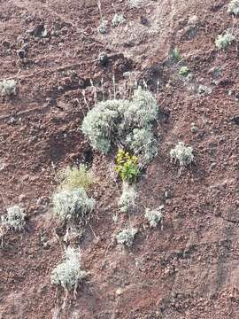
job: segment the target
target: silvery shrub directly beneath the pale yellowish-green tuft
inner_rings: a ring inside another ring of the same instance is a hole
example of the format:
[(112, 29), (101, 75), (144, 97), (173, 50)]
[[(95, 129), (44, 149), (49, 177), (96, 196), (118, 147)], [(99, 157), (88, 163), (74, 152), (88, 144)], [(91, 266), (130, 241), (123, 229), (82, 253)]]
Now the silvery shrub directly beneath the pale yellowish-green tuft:
[(82, 188), (57, 191), (52, 198), (53, 214), (58, 222), (73, 222), (82, 225), (89, 219), (96, 205)]

